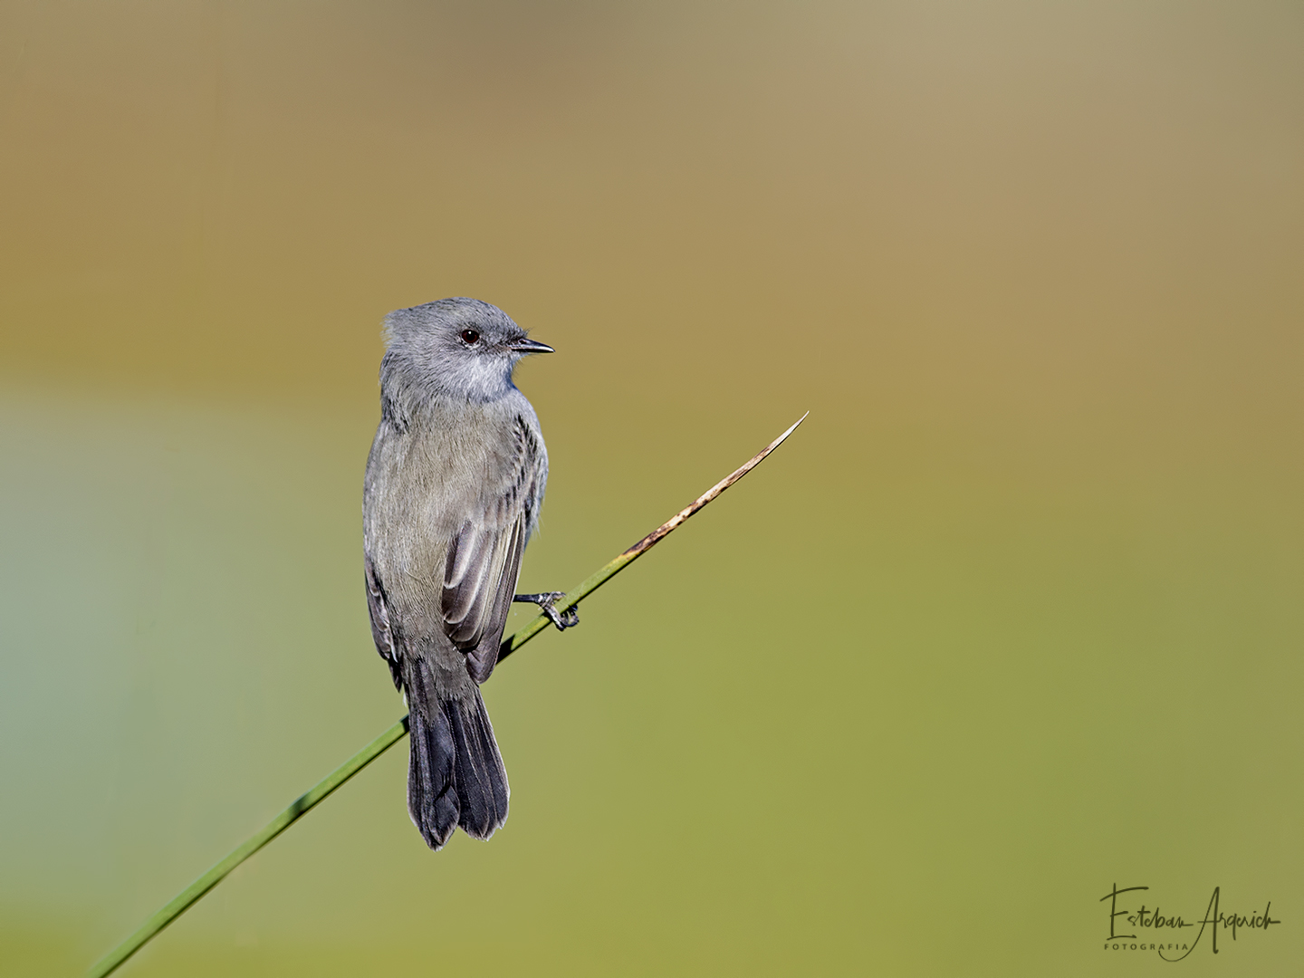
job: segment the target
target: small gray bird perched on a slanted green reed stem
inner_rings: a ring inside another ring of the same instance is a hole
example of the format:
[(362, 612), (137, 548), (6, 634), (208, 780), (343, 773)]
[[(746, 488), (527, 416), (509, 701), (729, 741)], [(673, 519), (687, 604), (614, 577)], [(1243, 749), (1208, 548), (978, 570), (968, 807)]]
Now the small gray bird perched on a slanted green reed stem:
[(442, 299), (385, 319), (381, 424), (366, 460), (363, 546), (376, 648), (411, 716), (408, 812), (438, 849), (460, 825), (488, 838), (507, 819), (507, 772), (480, 683), (498, 661), (539, 524), (548, 452), (535, 409), (511, 382), (553, 348), (501, 309)]

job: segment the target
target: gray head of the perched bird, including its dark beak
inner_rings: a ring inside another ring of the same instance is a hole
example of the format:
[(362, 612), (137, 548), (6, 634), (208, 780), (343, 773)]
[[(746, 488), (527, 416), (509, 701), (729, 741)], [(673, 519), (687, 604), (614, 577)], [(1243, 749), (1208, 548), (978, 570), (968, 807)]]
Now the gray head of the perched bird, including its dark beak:
[(497, 400), (512, 390), (511, 372), (523, 356), (552, 352), (498, 306), (464, 297), (390, 313), (385, 340), (381, 386), (403, 407), (439, 395)]

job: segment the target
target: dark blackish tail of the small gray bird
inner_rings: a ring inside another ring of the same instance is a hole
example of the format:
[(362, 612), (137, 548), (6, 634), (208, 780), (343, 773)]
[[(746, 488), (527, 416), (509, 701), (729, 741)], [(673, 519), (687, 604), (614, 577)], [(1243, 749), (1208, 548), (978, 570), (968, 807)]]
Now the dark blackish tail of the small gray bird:
[(432, 849), (458, 825), (472, 838), (488, 838), (507, 820), (509, 789), (480, 690), (443, 699), (424, 662), (407, 672), (408, 814)]

